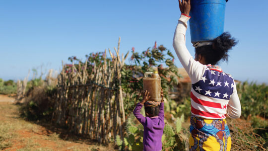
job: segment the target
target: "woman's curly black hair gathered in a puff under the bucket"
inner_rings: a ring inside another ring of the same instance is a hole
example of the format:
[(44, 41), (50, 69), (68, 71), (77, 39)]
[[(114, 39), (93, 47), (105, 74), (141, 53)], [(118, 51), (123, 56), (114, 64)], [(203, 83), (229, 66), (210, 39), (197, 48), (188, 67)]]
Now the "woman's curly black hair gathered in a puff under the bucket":
[(213, 39), (212, 42), (212, 45), (196, 48), (196, 55), (203, 56), (206, 64), (211, 65), (216, 65), (220, 60), (228, 61), (228, 51), (238, 43), (228, 32), (222, 33), (220, 36)]

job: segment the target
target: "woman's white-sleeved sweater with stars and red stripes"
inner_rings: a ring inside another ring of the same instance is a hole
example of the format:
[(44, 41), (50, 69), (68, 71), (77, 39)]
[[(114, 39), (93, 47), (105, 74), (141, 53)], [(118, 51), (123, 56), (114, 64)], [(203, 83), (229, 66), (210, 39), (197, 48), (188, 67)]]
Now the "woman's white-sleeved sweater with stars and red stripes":
[(241, 105), (232, 76), (217, 66), (195, 61), (186, 48), (185, 33), (189, 19), (181, 15), (174, 33), (173, 47), (192, 81), (192, 115), (205, 119), (239, 118)]

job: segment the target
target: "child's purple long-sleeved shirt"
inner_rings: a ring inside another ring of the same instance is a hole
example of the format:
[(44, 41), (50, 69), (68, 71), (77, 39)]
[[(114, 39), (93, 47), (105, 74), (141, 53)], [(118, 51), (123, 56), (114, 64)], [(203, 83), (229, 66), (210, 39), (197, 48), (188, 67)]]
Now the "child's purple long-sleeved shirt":
[(158, 117), (144, 117), (140, 114), (142, 104), (137, 103), (133, 114), (137, 120), (143, 125), (143, 151), (161, 151), (162, 135), (165, 126), (164, 122), (164, 103), (160, 103)]

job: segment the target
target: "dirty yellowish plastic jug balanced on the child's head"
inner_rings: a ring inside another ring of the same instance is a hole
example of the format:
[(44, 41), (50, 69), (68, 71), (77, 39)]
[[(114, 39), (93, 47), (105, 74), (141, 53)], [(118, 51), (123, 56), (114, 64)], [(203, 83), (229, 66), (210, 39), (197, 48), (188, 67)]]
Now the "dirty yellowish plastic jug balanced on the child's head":
[(158, 72), (145, 72), (142, 80), (143, 90), (150, 92), (150, 101), (161, 101), (161, 77)]

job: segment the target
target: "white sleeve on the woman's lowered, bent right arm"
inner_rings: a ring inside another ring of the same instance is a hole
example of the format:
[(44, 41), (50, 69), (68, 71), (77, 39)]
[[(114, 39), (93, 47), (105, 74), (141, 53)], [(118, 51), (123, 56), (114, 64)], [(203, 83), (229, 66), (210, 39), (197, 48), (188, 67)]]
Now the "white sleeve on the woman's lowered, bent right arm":
[(233, 119), (239, 118), (241, 115), (241, 105), (240, 105), (240, 100), (237, 94), (235, 82), (234, 82), (234, 91), (230, 97), (226, 114), (228, 117), (233, 118)]

